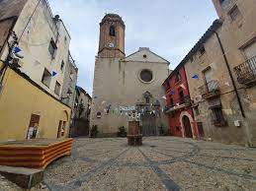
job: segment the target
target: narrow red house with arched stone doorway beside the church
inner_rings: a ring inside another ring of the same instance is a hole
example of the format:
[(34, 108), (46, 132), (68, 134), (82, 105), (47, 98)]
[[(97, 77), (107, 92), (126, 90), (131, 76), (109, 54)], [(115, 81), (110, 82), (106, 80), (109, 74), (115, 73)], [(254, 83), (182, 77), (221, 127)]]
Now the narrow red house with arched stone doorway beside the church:
[(194, 121), (186, 72), (179, 65), (165, 80), (165, 113), (169, 119), (171, 135), (177, 137), (199, 138), (197, 123)]

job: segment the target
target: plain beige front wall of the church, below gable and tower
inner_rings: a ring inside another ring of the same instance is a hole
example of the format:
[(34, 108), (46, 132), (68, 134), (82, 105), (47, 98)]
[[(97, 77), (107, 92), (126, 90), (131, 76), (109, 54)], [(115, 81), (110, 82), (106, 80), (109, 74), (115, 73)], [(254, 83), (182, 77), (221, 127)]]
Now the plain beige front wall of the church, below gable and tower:
[[(150, 84), (142, 83), (138, 74), (142, 69), (150, 69), (154, 80)], [(112, 108), (132, 106), (141, 101), (148, 91), (164, 106), (162, 83), (168, 76), (168, 63), (150, 63), (140, 61), (122, 61), (118, 58), (96, 58), (93, 90), (91, 125), (98, 125), (101, 133), (115, 133), (121, 126), (128, 127), (128, 116), (108, 114), (104, 109), (108, 104)], [(97, 112), (102, 117), (97, 118)], [(167, 127), (167, 119), (162, 113), (162, 123)]]

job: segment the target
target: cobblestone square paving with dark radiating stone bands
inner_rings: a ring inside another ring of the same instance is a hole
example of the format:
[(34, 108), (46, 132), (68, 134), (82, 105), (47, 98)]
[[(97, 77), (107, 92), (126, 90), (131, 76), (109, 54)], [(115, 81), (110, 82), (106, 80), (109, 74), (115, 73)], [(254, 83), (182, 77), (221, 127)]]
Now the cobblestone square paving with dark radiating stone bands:
[[(77, 139), (43, 190), (256, 190), (256, 149), (173, 137)], [(1, 185), (1, 184), (0, 184)]]

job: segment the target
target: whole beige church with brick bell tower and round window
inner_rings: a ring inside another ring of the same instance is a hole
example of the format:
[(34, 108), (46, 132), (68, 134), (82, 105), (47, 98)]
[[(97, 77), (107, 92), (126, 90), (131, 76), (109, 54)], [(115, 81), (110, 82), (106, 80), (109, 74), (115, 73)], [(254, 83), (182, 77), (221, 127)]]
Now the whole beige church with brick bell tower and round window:
[(168, 127), (162, 84), (169, 75), (169, 62), (140, 47), (126, 56), (126, 25), (117, 14), (100, 23), (99, 51), (95, 61), (91, 126), (100, 134), (115, 135), (139, 120), (145, 136), (158, 135)]

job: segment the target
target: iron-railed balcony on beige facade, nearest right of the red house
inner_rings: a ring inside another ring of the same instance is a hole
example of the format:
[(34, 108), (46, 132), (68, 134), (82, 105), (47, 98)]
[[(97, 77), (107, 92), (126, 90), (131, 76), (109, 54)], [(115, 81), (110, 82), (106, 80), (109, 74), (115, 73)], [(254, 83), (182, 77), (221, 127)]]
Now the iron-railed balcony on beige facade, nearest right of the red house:
[(218, 82), (215, 80), (210, 81), (209, 83), (200, 87), (199, 90), (200, 90), (202, 97), (205, 99), (211, 99), (213, 97), (220, 95)]

